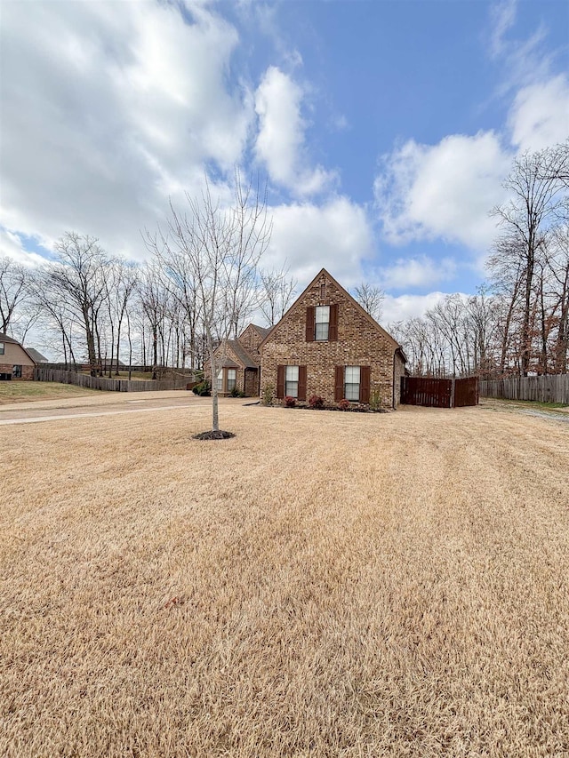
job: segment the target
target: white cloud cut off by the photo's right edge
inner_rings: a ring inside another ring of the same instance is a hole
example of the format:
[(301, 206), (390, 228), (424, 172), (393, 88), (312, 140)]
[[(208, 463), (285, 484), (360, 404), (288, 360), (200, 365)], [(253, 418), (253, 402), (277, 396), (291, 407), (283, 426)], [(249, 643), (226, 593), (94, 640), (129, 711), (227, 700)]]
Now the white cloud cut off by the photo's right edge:
[(517, 92), (509, 113), (511, 141), (519, 150), (540, 150), (569, 136), (569, 81), (559, 75)]

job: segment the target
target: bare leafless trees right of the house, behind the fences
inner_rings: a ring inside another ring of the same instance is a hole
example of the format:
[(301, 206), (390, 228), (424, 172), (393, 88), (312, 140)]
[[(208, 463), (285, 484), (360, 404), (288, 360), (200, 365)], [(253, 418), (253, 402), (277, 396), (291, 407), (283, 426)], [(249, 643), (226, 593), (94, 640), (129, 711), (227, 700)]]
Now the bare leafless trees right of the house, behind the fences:
[(391, 324), (409, 369), (485, 379), (566, 373), (569, 364), (569, 141), (513, 163), (488, 280)]

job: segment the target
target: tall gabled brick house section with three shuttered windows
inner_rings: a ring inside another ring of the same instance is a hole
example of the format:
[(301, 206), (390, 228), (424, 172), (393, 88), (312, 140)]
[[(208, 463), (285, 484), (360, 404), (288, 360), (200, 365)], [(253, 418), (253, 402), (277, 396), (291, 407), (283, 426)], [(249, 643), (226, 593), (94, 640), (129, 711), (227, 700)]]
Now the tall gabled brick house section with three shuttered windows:
[(343, 398), (382, 407), (400, 402), (405, 355), (325, 268), (260, 343), (260, 395), (326, 403)]

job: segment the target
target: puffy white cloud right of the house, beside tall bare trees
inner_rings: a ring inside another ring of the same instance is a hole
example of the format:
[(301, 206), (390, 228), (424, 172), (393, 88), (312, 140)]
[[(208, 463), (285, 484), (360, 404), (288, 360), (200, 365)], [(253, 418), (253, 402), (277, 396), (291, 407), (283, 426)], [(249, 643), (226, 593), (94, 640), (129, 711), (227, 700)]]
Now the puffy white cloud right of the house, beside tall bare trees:
[(391, 243), (442, 238), (485, 249), (495, 234), (488, 211), (503, 199), (509, 166), (494, 132), (453, 134), (434, 146), (407, 141), (375, 180), (384, 234)]

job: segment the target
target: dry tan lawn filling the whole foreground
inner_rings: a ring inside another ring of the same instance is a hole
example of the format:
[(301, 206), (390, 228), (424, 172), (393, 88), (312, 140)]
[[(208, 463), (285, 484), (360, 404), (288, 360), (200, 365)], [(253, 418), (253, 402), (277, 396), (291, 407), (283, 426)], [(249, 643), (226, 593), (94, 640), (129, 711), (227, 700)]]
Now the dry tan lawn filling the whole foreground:
[(0, 754), (569, 754), (569, 424), (221, 419), (0, 429)]

